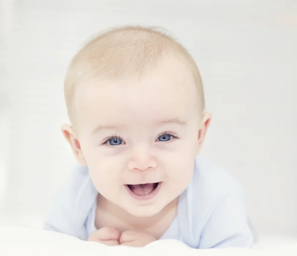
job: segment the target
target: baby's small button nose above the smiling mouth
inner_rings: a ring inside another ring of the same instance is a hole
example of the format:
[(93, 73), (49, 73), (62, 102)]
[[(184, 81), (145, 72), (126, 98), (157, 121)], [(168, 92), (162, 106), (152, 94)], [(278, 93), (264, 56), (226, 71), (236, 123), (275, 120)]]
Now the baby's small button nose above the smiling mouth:
[(128, 168), (133, 171), (146, 171), (155, 169), (157, 161), (155, 156), (146, 147), (138, 147), (134, 149), (128, 160)]

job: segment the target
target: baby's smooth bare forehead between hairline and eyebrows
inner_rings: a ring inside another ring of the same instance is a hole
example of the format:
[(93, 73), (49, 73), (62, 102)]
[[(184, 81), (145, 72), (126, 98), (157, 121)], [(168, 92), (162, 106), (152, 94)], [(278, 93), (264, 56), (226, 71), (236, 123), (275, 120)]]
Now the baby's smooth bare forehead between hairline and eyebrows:
[(187, 118), (197, 112), (197, 88), (193, 75), (182, 63), (160, 62), (134, 78), (104, 81), (94, 78), (78, 87), (77, 120), (85, 124), (140, 122)]

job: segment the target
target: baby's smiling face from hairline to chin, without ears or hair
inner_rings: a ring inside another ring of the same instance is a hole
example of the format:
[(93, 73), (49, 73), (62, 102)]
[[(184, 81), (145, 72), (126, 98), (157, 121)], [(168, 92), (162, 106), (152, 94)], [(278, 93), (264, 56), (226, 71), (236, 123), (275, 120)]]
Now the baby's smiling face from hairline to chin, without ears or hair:
[(191, 74), (164, 59), (140, 79), (93, 79), (76, 92), (77, 138), (98, 192), (135, 216), (188, 186), (201, 116)]

